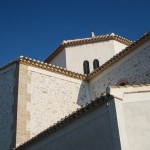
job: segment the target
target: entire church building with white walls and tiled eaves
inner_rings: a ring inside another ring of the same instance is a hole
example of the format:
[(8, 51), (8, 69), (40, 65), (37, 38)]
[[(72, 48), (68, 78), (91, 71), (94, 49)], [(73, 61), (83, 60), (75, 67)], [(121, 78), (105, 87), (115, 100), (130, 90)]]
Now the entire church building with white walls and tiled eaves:
[[(0, 149), (148, 149), (150, 33), (63, 41), (0, 68)], [(64, 118), (64, 119), (62, 119)]]

